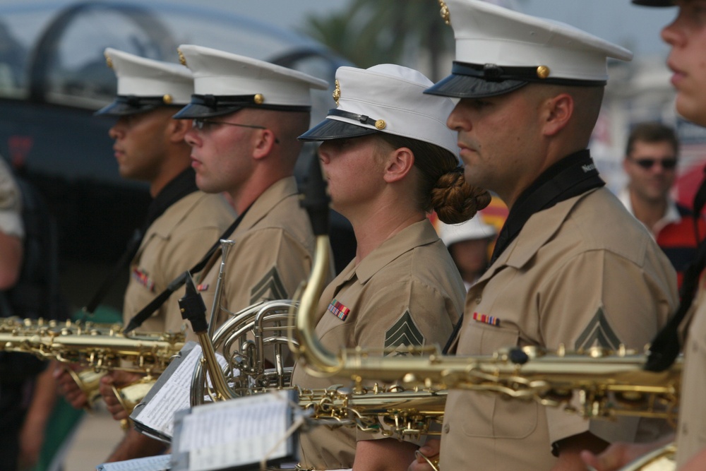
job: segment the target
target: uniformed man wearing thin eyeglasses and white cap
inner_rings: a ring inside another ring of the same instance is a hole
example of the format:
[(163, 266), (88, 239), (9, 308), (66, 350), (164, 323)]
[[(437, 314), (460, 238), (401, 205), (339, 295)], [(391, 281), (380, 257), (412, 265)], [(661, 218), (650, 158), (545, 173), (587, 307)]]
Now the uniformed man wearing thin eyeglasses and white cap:
[[(309, 127), (311, 89), (325, 81), (290, 68), (208, 47), (182, 45), (191, 68), (191, 103), (174, 117), (193, 119), (186, 133), (196, 184), (228, 193), (240, 215), (231, 234), (216, 324), (264, 299), (289, 299), (309, 276), (314, 237), (299, 206), (294, 163)], [(220, 256), (198, 279), (208, 309), (213, 304)]]

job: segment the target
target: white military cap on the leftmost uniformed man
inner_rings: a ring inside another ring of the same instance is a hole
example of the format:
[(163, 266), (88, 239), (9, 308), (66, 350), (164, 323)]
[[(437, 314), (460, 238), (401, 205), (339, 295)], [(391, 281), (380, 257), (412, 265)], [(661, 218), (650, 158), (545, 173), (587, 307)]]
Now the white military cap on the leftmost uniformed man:
[(189, 103), (193, 78), (188, 68), (145, 59), (111, 47), (107, 47), (104, 54), (118, 79), (118, 95), (114, 102), (95, 114), (123, 116)]

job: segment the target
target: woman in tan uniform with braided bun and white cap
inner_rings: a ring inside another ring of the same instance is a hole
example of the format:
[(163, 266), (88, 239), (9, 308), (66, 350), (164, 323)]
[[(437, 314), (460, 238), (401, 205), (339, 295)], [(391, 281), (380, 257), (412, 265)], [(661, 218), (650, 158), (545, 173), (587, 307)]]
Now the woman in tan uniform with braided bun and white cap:
[[(465, 183), (455, 133), (445, 126), (453, 102), (422, 92), (431, 82), (410, 68), (341, 67), (337, 108), (304, 133), (323, 141), (320, 157), (333, 208), (352, 223), (357, 254), (325, 289), (316, 334), (325, 347), (443, 345), (458, 320), (465, 288), (426, 215), (459, 223), (490, 201)], [(309, 376), (292, 383), (325, 388)], [(301, 436), (301, 466), (311, 470), (406, 470), (415, 443), (349, 428), (315, 427)]]

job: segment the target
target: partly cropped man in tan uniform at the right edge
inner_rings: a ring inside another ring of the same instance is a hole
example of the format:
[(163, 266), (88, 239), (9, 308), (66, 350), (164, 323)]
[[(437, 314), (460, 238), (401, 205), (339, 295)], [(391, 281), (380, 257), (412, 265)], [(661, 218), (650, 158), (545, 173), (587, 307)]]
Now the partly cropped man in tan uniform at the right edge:
[[(706, 69), (703, 66), (706, 50), (706, 2), (633, 0), (633, 3), (645, 6), (678, 6), (676, 19), (662, 30), (662, 39), (671, 46), (667, 64), (674, 72), (671, 83), (676, 89), (676, 110), (695, 124), (706, 126), (706, 89), (703, 87), (706, 81)], [(704, 190), (702, 182), (698, 193)], [(696, 200), (697, 198), (695, 203)], [(698, 213), (698, 208), (695, 208), (695, 213)], [(677, 315), (686, 315), (681, 319), (681, 326), (678, 325), (679, 317), (670, 325), (675, 328), (678, 326), (681, 342), (674, 340), (674, 343), (683, 345), (685, 357), (676, 432), (676, 466), (680, 471), (706, 469), (706, 403), (703, 400), (703, 392), (706, 390), (706, 278), (702, 273), (705, 258), (706, 244), (702, 242), (693, 269), (687, 270), (684, 275), (680, 293), (683, 306), (680, 306)], [(697, 287), (698, 292), (695, 293), (693, 304), (690, 304), (689, 298)], [(676, 329), (674, 330), (676, 334)], [(655, 348), (653, 345), (652, 350)], [(654, 353), (651, 357), (652, 355)], [(668, 366), (669, 362), (666, 362), (661, 368)], [(672, 439), (674, 436), (651, 443), (650, 446), (616, 443), (598, 457), (585, 452), (582, 458), (597, 471), (618, 470), (645, 451), (662, 446)]]

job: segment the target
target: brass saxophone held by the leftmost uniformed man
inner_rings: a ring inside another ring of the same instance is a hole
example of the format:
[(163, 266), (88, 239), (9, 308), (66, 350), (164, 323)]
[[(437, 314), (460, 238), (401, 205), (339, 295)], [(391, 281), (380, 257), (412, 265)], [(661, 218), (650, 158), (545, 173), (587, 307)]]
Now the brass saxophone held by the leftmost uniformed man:
[(85, 393), (89, 405), (100, 398), (100, 378), (107, 371), (146, 374), (138, 383), (116, 391), (128, 411), (155, 382), (152, 375), (164, 371), (183, 346), (183, 333), (124, 335), (119, 324), (0, 319), (0, 351), (29, 353), (41, 359), (83, 366), (83, 371), (67, 370)]

